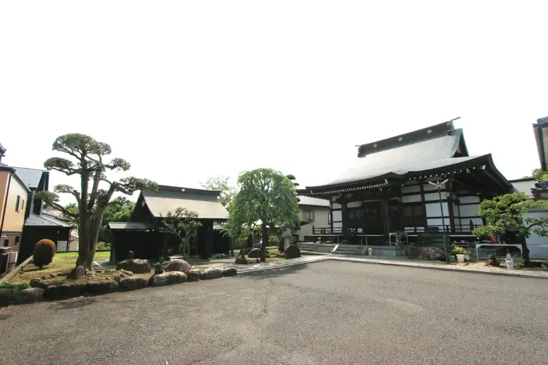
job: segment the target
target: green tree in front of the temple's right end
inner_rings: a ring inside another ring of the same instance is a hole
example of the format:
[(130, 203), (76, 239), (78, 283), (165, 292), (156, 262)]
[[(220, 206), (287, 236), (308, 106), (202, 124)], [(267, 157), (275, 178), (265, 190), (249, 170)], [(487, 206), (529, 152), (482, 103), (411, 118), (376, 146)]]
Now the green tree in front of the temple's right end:
[(486, 219), (486, 225), (480, 225), (473, 230), (476, 236), (500, 235), (507, 231), (514, 231), (520, 238), (523, 252), (523, 263), (530, 263), (529, 249), (525, 238), (531, 234), (548, 236), (545, 226), (548, 225), (548, 218), (523, 218), (523, 213), (530, 208), (548, 210), (548, 201), (535, 201), (525, 197), (523, 192), (495, 197), (492, 200), (485, 199), (479, 204), (477, 216)]

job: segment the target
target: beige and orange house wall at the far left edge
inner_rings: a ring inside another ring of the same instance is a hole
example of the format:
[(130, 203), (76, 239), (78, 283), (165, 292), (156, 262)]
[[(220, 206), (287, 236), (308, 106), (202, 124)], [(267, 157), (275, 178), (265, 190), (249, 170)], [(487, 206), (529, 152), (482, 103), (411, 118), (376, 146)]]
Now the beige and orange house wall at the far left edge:
[(17, 262), (29, 192), (14, 168), (0, 164), (0, 276)]

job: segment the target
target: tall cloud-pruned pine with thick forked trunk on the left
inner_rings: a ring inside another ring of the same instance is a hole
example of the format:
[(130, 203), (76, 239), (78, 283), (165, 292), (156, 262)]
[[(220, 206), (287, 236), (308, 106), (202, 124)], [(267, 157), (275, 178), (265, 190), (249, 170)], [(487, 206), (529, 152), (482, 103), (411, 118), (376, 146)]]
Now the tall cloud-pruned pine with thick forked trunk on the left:
[[(90, 269), (103, 223), (103, 214), (111, 203), (112, 194), (123, 192), (131, 195), (136, 190), (156, 189), (157, 185), (148, 179), (136, 177), (123, 177), (119, 181), (109, 180), (105, 175), (106, 172), (127, 171), (130, 167), (129, 162), (121, 158), (113, 158), (110, 162), (103, 161), (106, 155), (110, 155), (110, 146), (85, 134), (59, 136), (53, 142), (53, 151), (66, 153), (71, 160), (59, 157), (49, 158), (44, 162), (44, 167), (49, 171), (60, 171), (69, 176), (79, 175), (80, 190), (60, 184), (55, 186), (55, 192), (39, 192), (37, 196), (61, 210), (64, 215), (77, 220), (79, 249), (76, 265), (84, 265)], [(72, 194), (77, 201), (77, 212), (60, 205), (57, 193)]]

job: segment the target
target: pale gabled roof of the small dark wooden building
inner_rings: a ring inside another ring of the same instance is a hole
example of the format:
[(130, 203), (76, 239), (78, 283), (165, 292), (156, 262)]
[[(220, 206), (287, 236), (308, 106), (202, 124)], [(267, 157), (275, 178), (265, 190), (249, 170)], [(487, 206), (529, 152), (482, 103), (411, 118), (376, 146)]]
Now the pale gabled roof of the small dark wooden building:
[(197, 212), (201, 219), (225, 220), (228, 211), (219, 201), (218, 190), (202, 190), (181, 188), (177, 186), (158, 186), (158, 190), (143, 190), (141, 192), (145, 204), (156, 218), (175, 212), (177, 207), (184, 207)]

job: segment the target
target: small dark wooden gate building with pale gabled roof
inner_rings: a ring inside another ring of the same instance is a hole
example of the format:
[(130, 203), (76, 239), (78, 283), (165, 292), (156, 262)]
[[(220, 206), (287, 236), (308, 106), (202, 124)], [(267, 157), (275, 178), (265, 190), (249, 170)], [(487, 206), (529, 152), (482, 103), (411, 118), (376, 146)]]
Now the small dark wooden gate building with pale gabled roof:
[(162, 216), (177, 207), (197, 212), (202, 224), (191, 243), (191, 255), (210, 257), (227, 253), (229, 239), (221, 234), (219, 224), (227, 220), (228, 212), (219, 201), (220, 191), (158, 186), (158, 190), (140, 192), (130, 223), (109, 222), (112, 231), (111, 262), (124, 260), (129, 251), (135, 257), (158, 259), (168, 254), (177, 239), (160, 232)]

